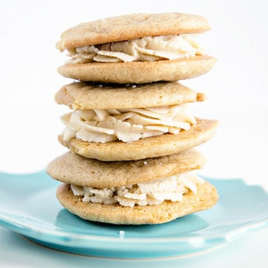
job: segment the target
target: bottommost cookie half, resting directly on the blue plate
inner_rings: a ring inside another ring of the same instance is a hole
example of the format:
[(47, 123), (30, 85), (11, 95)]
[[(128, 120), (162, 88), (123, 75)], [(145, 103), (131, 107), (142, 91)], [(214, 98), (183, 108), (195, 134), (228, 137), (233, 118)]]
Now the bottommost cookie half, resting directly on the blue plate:
[(123, 207), (118, 204), (82, 202), (75, 196), (70, 185), (62, 184), (57, 189), (57, 199), (63, 207), (77, 216), (91, 221), (112, 224), (160, 224), (197, 211), (210, 209), (216, 204), (218, 194), (208, 182), (197, 185), (197, 193), (183, 195), (182, 202), (164, 201), (157, 206)]

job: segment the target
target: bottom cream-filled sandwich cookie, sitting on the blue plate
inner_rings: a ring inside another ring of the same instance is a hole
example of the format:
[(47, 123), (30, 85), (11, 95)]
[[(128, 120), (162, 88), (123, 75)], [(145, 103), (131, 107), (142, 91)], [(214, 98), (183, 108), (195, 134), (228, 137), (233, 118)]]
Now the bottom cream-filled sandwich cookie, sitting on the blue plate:
[(211, 208), (215, 188), (195, 174), (204, 157), (192, 150), (139, 161), (102, 162), (65, 153), (47, 172), (68, 211), (113, 224), (160, 224)]

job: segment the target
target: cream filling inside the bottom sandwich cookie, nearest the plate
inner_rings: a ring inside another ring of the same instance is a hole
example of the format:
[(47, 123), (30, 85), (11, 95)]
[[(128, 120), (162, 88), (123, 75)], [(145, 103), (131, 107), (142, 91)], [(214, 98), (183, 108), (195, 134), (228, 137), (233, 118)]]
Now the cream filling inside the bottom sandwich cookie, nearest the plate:
[(74, 195), (83, 196), (83, 202), (115, 204), (134, 207), (135, 205), (159, 205), (165, 200), (182, 201), (189, 190), (197, 193), (197, 184), (204, 180), (195, 171), (184, 172), (149, 183), (130, 186), (96, 189), (71, 185)]

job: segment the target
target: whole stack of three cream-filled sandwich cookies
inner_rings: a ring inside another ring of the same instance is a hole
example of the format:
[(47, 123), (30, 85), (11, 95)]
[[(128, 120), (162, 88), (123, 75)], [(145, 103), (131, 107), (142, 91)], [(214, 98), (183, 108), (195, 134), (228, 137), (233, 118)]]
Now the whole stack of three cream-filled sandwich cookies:
[(58, 139), (70, 149), (48, 167), (63, 182), (59, 202), (91, 221), (159, 224), (211, 208), (217, 191), (196, 175), (205, 159), (194, 148), (215, 133), (217, 121), (194, 117), (204, 101), (176, 80), (207, 73), (215, 58), (198, 36), (201, 16), (133, 14), (65, 31), (57, 43), (69, 60), (58, 72), (80, 81), (63, 86)]

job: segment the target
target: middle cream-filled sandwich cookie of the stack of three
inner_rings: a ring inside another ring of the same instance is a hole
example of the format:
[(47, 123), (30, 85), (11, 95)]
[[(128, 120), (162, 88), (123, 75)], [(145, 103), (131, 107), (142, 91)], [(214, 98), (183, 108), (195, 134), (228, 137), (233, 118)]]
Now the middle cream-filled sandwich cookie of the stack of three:
[(178, 153), (210, 139), (217, 121), (196, 119), (187, 103), (203, 101), (178, 82), (146, 85), (73, 83), (56, 94), (72, 108), (59, 141), (102, 161), (138, 160)]

